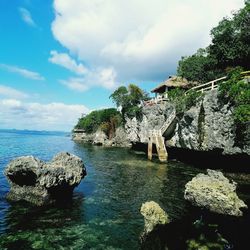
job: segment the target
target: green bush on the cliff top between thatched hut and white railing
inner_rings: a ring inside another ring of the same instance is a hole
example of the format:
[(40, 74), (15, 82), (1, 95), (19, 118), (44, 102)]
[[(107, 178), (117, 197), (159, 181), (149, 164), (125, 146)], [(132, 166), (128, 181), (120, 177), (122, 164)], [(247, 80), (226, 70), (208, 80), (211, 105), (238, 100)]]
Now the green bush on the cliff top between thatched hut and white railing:
[(182, 114), (185, 110), (194, 106), (203, 96), (201, 92), (194, 90), (186, 92), (183, 89), (175, 88), (168, 91), (168, 98), (175, 104), (177, 114)]

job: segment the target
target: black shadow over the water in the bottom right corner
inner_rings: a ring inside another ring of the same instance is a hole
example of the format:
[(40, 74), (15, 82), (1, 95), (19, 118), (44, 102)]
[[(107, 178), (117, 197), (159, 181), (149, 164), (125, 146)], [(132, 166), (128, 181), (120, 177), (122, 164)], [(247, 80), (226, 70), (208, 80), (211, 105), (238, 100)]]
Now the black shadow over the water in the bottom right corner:
[(189, 213), (143, 238), (144, 250), (242, 250), (249, 245), (249, 212), (235, 218), (189, 208)]

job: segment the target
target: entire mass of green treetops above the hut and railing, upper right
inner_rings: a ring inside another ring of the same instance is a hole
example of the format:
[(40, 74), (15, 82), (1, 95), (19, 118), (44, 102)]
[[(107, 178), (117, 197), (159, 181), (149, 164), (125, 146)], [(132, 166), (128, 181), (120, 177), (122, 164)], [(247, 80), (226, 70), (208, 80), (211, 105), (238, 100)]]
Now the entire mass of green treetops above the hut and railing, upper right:
[(207, 82), (225, 75), (228, 67), (250, 68), (250, 3), (225, 17), (211, 30), (212, 43), (182, 57), (177, 73), (189, 81)]

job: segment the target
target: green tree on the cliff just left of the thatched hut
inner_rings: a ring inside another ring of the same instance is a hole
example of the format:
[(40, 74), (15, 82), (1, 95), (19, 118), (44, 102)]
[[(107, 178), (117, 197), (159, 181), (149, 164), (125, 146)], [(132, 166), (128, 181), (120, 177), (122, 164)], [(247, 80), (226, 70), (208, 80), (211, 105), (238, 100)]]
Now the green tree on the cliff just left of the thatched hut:
[(121, 86), (116, 89), (110, 98), (117, 107), (121, 107), (122, 119), (125, 121), (125, 117), (141, 118), (140, 104), (148, 99), (148, 94), (138, 86), (129, 84), (127, 88)]

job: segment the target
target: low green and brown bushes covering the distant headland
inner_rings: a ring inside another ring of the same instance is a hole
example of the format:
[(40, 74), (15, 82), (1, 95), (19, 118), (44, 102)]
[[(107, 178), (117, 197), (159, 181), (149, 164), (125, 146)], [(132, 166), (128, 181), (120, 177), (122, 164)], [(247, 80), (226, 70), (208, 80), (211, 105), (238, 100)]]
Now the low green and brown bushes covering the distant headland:
[(86, 133), (93, 133), (101, 129), (111, 138), (120, 124), (120, 113), (114, 108), (109, 108), (92, 111), (80, 118), (75, 128), (84, 129)]

